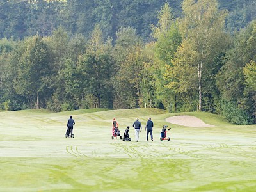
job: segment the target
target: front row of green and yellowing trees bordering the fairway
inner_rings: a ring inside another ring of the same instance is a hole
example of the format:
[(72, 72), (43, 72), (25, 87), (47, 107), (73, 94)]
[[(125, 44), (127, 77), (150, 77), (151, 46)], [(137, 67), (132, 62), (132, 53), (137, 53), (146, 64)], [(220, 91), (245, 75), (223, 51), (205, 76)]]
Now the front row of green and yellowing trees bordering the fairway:
[(146, 105), (255, 123), (256, 21), (228, 33), (218, 1), (184, 0), (181, 9), (176, 17), (164, 3), (148, 42), (132, 26), (106, 37), (100, 23), (88, 37), (59, 26), (49, 36), (1, 38), (1, 108)]

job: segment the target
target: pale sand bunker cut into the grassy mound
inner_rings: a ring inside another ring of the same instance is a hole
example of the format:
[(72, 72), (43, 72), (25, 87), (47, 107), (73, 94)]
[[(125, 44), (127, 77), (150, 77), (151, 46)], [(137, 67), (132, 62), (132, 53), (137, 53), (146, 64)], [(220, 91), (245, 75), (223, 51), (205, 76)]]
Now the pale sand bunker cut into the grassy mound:
[(200, 118), (189, 115), (171, 116), (165, 119), (171, 124), (183, 125), (186, 127), (214, 127), (214, 125), (205, 124)]

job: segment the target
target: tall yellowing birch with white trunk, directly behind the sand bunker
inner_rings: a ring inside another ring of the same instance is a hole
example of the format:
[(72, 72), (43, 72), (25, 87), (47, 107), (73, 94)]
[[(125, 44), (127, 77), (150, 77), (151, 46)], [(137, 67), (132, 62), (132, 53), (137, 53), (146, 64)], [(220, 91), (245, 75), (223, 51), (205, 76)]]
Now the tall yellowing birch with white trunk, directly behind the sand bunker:
[[(184, 41), (177, 52), (173, 63), (177, 76), (174, 81), (176, 88), (188, 87), (184, 84), (191, 84), (188, 77), (197, 77), (198, 111), (202, 111), (202, 88), (204, 86), (204, 75), (207, 74), (207, 67), (214, 65), (214, 56), (223, 51), (223, 36), (225, 36), (226, 12), (218, 10), (216, 0), (185, 0), (182, 3), (182, 19), (180, 20), (180, 31)], [(187, 49), (189, 47), (189, 49)], [(186, 50), (186, 52), (184, 52)], [(188, 76), (180, 76), (184, 71), (179, 71), (182, 65), (188, 71)], [(171, 69), (172, 70), (172, 69)], [(190, 70), (190, 72), (189, 72)], [(196, 71), (196, 74), (193, 72)], [(186, 81), (183, 81), (186, 78)], [(191, 81), (193, 81), (191, 79)], [(177, 86), (177, 83), (179, 86)], [(191, 87), (193, 88), (193, 86)], [(181, 90), (179, 90), (181, 91)]]

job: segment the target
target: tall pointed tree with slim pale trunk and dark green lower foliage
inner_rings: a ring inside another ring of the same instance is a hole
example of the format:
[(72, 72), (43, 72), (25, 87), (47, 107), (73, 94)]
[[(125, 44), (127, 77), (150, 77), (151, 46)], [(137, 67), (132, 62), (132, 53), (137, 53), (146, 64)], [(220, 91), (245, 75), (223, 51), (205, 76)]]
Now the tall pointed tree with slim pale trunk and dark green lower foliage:
[(88, 90), (96, 98), (96, 108), (101, 108), (102, 97), (107, 98), (106, 95), (110, 92), (109, 82), (113, 74), (110, 70), (113, 67), (111, 49), (111, 40), (104, 42), (102, 30), (99, 24), (96, 24), (83, 61), (88, 78)]

